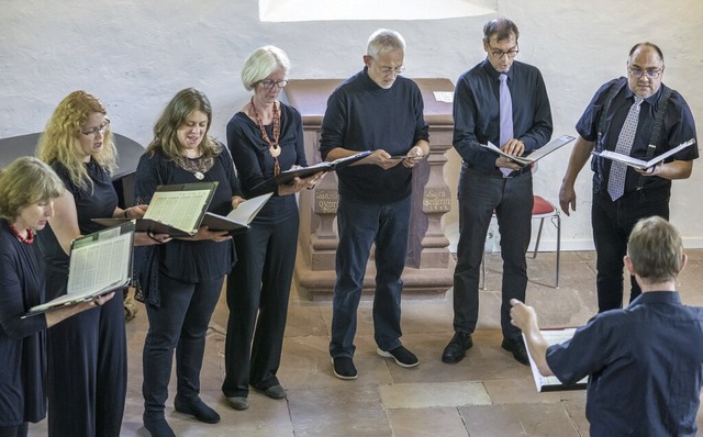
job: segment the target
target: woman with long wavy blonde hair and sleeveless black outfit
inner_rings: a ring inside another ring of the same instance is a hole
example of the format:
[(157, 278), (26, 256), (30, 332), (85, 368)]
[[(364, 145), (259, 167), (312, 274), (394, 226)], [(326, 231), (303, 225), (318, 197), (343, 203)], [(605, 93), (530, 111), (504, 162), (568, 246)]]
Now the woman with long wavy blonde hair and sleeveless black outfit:
[[(86, 91), (74, 91), (58, 103), (40, 138), (37, 155), (66, 188), (40, 240), (47, 298), (55, 299), (66, 294), (70, 242), (103, 227), (92, 218), (138, 218), (146, 206), (118, 206), (111, 180), (116, 152), (110, 119), (100, 100)], [(135, 235), (135, 245), (155, 243), (160, 240)], [(127, 372), (122, 299), (52, 329), (48, 350), (48, 435), (119, 436)]]

